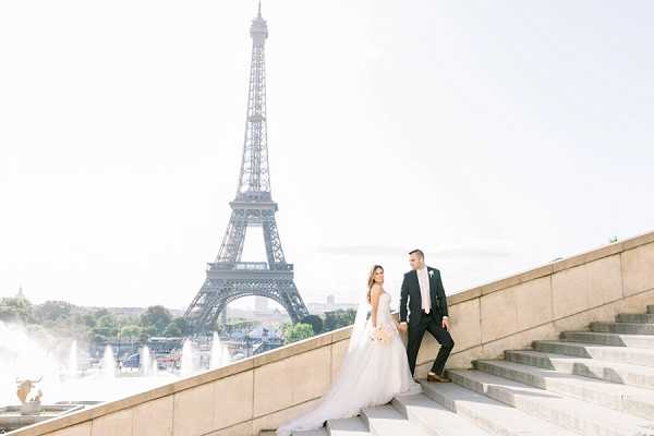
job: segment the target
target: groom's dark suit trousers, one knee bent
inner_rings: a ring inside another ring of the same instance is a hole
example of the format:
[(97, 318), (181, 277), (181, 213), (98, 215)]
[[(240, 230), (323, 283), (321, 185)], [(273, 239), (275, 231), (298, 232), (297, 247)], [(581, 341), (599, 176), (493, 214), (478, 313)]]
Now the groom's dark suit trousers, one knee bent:
[(438, 341), (438, 343), (440, 343), (440, 350), (438, 350), (438, 355), (434, 361), (434, 365), (432, 365), (432, 372), (443, 375), (445, 363), (447, 362), (447, 358), (449, 358), (449, 354), (455, 347), (455, 341), (452, 340), (449, 331), (443, 328), (441, 323), (443, 317), (438, 311), (431, 311), (428, 314), (424, 313), (423, 311), (421, 313), (420, 320), (409, 325), (407, 356), (409, 359), (411, 374), (413, 374), (415, 371), (415, 360), (417, 359), (417, 351), (420, 350), (422, 339), (425, 336), (425, 331), (428, 331)]

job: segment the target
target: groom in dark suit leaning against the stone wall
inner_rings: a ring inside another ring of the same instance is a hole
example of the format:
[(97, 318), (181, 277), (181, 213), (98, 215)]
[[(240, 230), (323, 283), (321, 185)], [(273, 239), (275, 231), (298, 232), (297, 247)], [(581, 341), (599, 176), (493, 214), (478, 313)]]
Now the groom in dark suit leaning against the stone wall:
[[(404, 274), (400, 299), (400, 330), (409, 329), (407, 355), (411, 374), (415, 371), (415, 360), (425, 331), (429, 331), (440, 343), (440, 350), (427, 374), (428, 382), (450, 382), (443, 375), (445, 362), (455, 347), (449, 334), (447, 300), (440, 271), (425, 265), (425, 255), (420, 250), (409, 253), (411, 271)], [(409, 303), (409, 323), (407, 323), (407, 303)]]

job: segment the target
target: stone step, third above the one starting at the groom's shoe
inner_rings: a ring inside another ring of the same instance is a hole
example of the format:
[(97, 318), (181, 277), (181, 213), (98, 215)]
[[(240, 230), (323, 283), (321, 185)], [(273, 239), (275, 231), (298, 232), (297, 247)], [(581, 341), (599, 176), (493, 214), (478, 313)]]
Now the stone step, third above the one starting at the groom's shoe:
[(556, 340), (536, 340), (536, 351), (546, 353), (592, 358), (602, 361), (630, 363), (632, 365), (654, 366), (654, 350), (631, 347), (598, 346), (596, 343), (567, 342)]

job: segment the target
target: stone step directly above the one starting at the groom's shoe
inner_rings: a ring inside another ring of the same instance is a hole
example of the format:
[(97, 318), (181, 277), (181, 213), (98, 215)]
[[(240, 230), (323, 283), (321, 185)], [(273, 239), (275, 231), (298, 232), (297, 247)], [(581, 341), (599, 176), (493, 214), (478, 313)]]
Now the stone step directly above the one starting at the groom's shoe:
[(633, 416), (654, 417), (654, 392), (647, 389), (500, 360), (481, 360), (474, 361), (473, 364), (475, 368), (485, 373), (561, 396), (577, 398)]

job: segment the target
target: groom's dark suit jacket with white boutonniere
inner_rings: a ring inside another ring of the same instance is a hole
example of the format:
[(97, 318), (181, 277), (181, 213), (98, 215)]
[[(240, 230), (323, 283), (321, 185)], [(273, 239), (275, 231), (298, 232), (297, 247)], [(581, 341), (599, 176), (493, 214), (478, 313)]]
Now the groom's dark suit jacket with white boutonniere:
[[(429, 266), (427, 274), (429, 275), (429, 294), (432, 296), (432, 311), (438, 310), (440, 315), (447, 314), (447, 299), (445, 298), (445, 289), (443, 289), (443, 280), (440, 271)], [(417, 272), (410, 270), (404, 274), (402, 280), (402, 292), (400, 296), (400, 322), (407, 322), (407, 303), (409, 303), (409, 325), (417, 324), (422, 314), (422, 295), (420, 292), (420, 282), (417, 281)]]

